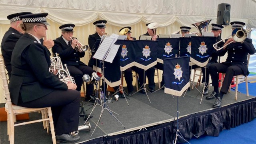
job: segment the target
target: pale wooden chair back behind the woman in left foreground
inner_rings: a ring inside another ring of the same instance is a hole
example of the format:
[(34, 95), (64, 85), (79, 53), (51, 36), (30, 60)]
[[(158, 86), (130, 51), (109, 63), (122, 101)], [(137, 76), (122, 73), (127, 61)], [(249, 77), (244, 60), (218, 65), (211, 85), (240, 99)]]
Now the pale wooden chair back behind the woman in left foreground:
[(10, 97), (10, 92), (9, 92), (9, 88), (8, 88), (8, 79), (6, 77), (6, 70), (5, 70), (5, 65), (4, 65), (4, 58), (1, 54), (0, 54), (0, 77), (3, 81), (4, 96), (6, 97), (6, 100), (7, 100), (6, 103), (8, 105), (8, 112), (13, 113), (12, 100)]

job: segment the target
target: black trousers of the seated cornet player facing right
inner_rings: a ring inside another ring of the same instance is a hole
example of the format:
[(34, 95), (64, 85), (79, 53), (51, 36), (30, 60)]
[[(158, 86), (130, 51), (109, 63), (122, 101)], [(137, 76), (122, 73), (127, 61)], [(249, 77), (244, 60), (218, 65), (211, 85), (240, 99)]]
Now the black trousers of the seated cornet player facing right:
[[(83, 75), (84, 74), (89, 74), (90, 77), (92, 77), (92, 73), (96, 72), (93, 70), (90, 66), (84, 66), (84, 65), (79, 65), (79, 66), (70, 66), (68, 65), (68, 70), (70, 72), (70, 75), (74, 77), (76, 81), (77, 91), (81, 91), (81, 86), (83, 84)], [(86, 95), (92, 95), (93, 94), (93, 84), (86, 84)]]

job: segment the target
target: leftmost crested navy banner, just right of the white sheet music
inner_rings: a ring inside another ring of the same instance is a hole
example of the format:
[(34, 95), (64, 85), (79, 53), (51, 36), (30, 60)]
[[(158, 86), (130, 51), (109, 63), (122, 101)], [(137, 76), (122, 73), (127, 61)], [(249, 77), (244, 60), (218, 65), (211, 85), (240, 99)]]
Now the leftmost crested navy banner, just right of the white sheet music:
[(122, 47), (120, 52), (120, 70), (123, 72), (134, 66), (136, 41), (117, 40), (115, 44), (120, 44)]

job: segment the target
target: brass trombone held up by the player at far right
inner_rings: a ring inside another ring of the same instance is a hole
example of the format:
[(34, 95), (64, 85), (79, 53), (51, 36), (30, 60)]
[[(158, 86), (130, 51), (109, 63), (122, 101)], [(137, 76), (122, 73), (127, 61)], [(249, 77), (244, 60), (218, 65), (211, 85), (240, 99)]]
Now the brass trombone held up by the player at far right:
[[(215, 44), (213, 44), (212, 46), (215, 48), (215, 50), (221, 50), (222, 48), (228, 46), (229, 44), (231, 44), (232, 42), (242, 42), (246, 39), (247, 35), (251, 32), (252, 30), (250, 28), (247, 28), (246, 30), (244, 30), (243, 28), (235, 28), (232, 31), (231, 36), (229, 36), (228, 38), (225, 38), (224, 40), (220, 40), (218, 42), (216, 42)], [(233, 38), (234, 41), (229, 42), (228, 44), (225, 44), (224, 46), (222, 46), (221, 48), (218, 48), (218, 44), (220, 42), (224, 42), (230, 38)]]

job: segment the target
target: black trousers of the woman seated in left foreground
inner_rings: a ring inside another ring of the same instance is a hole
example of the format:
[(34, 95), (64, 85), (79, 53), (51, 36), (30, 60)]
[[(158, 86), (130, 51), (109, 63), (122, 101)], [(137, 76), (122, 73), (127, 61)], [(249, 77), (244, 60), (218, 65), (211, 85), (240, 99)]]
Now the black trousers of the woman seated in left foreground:
[(77, 90), (54, 90), (36, 100), (19, 103), (27, 108), (52, 107), (52, 117), (56, 135), (78, 130), (80, 92)]

